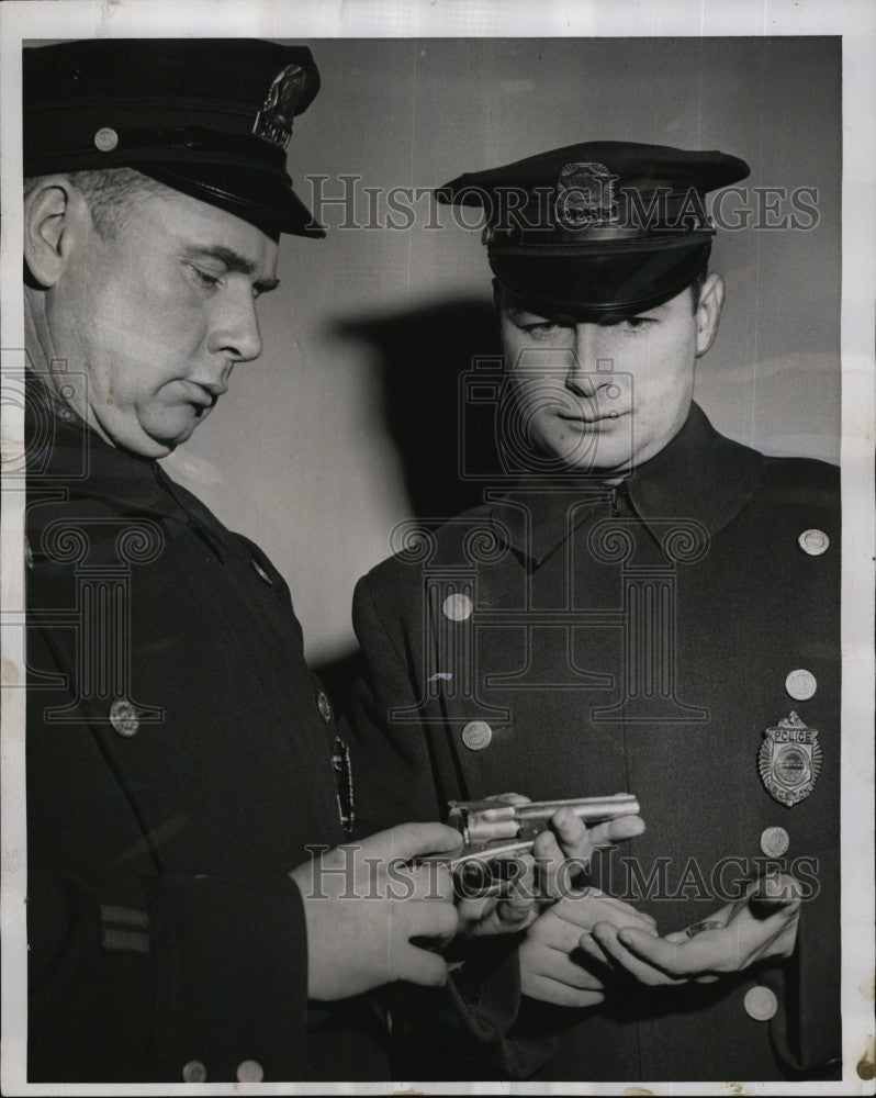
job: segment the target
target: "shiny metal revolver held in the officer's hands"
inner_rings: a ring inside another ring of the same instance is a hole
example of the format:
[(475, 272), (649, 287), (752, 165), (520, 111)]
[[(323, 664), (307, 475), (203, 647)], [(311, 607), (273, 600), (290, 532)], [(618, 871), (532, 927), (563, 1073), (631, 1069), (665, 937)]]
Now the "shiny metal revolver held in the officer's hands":
[[(462, 834), (462, 853), (439, 859), (451, 870), (457, 892), (467, 897), (494, 896), (513, 879), (509, 866), (532, 849), (536, 836), (558, 808), (571, 808), (585, 824), (605, 824), (638, 816), (639, 802), (630, 793), (570, 800), (534, 800), (506, 805), (501, 800), (450, 800), (447, 822)], [(429, 859), (431, 861), (431, 859)]]

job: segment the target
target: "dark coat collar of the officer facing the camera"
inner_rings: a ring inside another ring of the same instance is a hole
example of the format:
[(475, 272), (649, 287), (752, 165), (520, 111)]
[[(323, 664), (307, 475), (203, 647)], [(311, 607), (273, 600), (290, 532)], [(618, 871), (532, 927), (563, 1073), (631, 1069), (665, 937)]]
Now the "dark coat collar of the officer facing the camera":
[(597, 507), (636, 517), (660, 541), (666, 518), (695, 519), (709, 535), (722, 529), (751, 498), (764, 457), (711, 426), (697, 404), (678, 434), (617, 490), (603, 483), (558, 479), (538, 488), (521, 480), (496, 498), (496, 536), (532, 565), (542, 564)]

